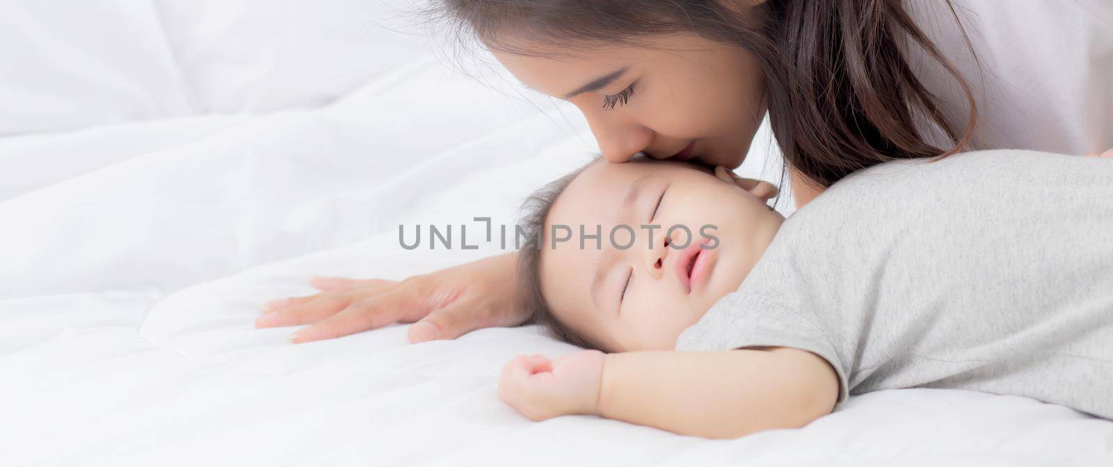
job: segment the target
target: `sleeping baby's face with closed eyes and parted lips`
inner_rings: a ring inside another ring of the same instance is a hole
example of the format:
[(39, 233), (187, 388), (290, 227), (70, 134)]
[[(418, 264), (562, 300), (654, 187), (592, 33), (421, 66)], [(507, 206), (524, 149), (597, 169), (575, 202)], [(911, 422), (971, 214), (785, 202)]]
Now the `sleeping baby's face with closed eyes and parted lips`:
[[(588, 167), (545, 220), (540, 277), (550, 308), (608, 350), (671, 350), (684, 328), (741, 285), (784, 221), (768, 197), (751, 191), (760, 190), (683, 163)], [(591, 238), (580, 248), (581, 225), (587, 235), (601, 226), (599, 249)], [(643, 225), (660, 228), (650, 236)], [(556, 238), (568, 236), (560, 226), (570, 228), (571, 240), (554, 247), (553, 226)], [(615, 226), (629, 226), (632, 240)], [(666, 238), (672, 226), (686, 226), (690, 237), (678, 227)]]

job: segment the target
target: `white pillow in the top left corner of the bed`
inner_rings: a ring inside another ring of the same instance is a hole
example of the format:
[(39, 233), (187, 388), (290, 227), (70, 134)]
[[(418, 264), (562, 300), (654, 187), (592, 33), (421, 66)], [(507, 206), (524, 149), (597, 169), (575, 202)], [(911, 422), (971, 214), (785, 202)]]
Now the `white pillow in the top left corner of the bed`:
[(151, 0), (0, 2), (0, 136), (190, 112)]

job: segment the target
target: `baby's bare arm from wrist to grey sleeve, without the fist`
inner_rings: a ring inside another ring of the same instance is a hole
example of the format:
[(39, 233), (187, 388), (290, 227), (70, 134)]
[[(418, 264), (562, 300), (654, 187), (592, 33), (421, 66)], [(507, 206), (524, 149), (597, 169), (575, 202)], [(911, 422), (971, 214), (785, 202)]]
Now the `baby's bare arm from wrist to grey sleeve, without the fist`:
[(603, 368), (601, 416), (681, 435), (798, 428), (829, 414), (838, 398), (827, 361), (784, 347), (612, 354)]

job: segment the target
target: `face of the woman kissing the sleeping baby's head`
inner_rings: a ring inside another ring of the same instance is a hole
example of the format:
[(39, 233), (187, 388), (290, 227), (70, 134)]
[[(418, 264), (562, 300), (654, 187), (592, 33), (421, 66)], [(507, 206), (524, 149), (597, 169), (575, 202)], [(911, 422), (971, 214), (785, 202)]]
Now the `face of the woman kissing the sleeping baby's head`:
[(612, 162), (644, 152), (738, 167), (765, 116), (765, 80), (740, 47), (693, 34), (575, 53), (525, 46), (536, 57), (495, 57), (524, 85), (579, 107)]

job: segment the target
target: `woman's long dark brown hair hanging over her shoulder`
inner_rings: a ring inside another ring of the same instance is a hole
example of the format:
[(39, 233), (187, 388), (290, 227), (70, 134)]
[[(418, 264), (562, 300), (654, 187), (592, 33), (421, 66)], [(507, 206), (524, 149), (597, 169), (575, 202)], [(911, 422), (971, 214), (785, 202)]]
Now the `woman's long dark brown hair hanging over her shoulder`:
[[(486, 47), (511, 53), (539, 53), (515, 39), (590, 50), (676, 32), (742, 47), (765, 73), (769, 119), (785, 160), (824, 187), (858, 169), (947, 156), (969, 142), (976, 121), (969, 86), (900, 0), (767, 0), (747, 8), (726, 1), (439, 0), (434, 12)], [(959, 131), (945, 119), (939, 101), (913, 73), (912, 48), (926, 52), (963, 89), (966, 128)], [(936, 147), (924, 133), (932, 123), (949, 138), (949, 148)]]

